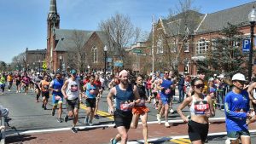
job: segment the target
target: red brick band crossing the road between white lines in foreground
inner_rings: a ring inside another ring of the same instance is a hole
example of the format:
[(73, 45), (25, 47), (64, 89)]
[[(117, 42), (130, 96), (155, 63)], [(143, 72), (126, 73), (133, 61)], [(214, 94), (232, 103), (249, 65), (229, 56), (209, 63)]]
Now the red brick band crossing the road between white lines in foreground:
[[(165, 128), (164, 124), (148, 124), (148, 139), (161, 138), (175, 135), (187, 135), (186, 124), (171, 124), (171, 128)], [(250, 130), (255, 130), (256, 124), (250, 125)], [(129, 141), (142, 140), (142, 125), (139, 125), (136, 130), (129, 131)], [(224, 123), (210, 124), (209, 133), (225, 132)], [(79, 130), (77, 134), (73, 134), (71, 130), (28, 134), (20, 136), (8, 136), (7, 143), (24, 143), (24, 144), (104, 144), (109, 143), (110, 138), (117, 134), (114, 128), (96, 128)]]

